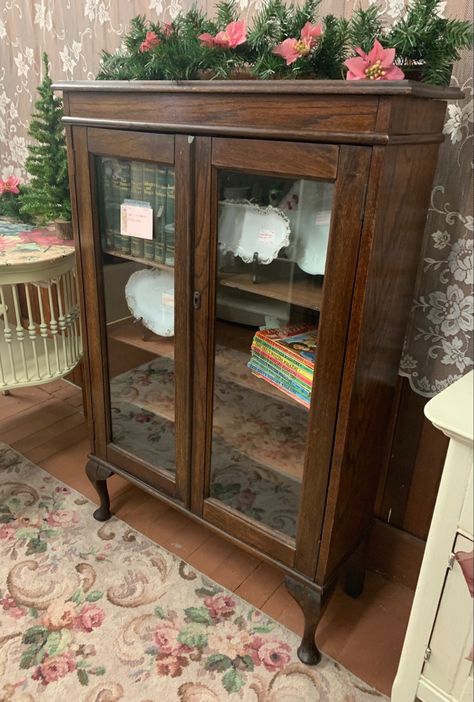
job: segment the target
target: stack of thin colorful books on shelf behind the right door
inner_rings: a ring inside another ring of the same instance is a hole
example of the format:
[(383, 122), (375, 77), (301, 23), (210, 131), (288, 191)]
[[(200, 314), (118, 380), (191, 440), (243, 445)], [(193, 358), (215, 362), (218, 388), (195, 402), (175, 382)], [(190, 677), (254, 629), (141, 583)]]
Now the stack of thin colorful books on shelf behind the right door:
[(253, 339), (248, 367), (254, 375), (309, 408), (317, 328), (308, 324), (261, 329)]

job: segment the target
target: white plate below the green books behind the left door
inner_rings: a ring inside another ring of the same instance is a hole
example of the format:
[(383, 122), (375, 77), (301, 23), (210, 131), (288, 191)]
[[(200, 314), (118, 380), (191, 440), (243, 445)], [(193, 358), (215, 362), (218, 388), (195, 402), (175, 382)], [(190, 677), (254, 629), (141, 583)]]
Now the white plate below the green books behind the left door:
[(135, 271), (125, 286), (135, 319), (159, 336), (174, 336), (174, 275), (159, 269)]

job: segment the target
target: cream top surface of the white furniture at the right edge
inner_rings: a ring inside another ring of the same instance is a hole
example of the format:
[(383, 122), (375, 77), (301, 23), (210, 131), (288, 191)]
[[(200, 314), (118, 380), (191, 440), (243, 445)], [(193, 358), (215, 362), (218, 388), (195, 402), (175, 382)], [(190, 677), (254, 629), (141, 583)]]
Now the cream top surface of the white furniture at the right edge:
[(473, 441), (474, 371), (433, 397), (425, 406), (428, 419), (448, 436)]

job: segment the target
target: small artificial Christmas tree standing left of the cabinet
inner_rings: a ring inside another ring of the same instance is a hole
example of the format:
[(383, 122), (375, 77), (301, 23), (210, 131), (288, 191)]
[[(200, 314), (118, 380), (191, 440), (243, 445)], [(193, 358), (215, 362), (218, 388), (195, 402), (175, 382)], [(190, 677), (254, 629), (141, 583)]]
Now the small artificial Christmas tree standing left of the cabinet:
[(28, 130), (37, 142), (29, 145), (25, 164), (32, 178), (27, 190), (19, 195), (20, 214), (33, 217), (38, 224), (71, 219), (62, 101), (53, 93), (46, 54), (43, 66), (40, 98)]

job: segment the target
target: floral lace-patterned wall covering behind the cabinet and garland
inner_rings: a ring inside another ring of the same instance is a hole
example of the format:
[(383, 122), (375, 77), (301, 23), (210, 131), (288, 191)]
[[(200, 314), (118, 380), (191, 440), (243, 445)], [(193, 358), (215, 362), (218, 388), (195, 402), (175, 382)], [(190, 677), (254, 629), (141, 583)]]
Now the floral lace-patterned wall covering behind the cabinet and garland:
[[(358, 0), (322, 0), (321, 14), (349, 16)], [(370, 0), (369, 0), (370, 1)], [(387, 23), (404, 0), (380, 0)], [(238, 0), (249, 19), (261, 0)], [(4, 0), (0, 9), (0, 177), (25, 177), (27, 128), (46, 51), (53, 80), (92, 79), (100, 52), (117, 48), (130, 19), (169, 21), (191, 0)], [(200, 5), (212, 12), (211, 0)], [(447, 0), (444, 16), (472, 20), (470, 0)], [(465, 93), (448, 104), (422, 259), (400, 373), (430, 397), (473, 365), (472, 55), (465, 52), (453, 83)]]

